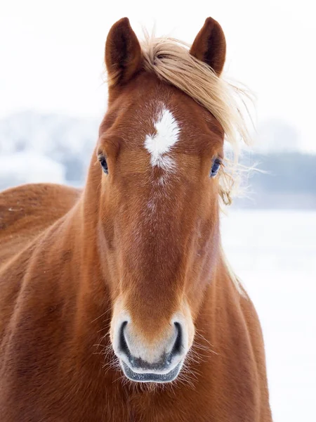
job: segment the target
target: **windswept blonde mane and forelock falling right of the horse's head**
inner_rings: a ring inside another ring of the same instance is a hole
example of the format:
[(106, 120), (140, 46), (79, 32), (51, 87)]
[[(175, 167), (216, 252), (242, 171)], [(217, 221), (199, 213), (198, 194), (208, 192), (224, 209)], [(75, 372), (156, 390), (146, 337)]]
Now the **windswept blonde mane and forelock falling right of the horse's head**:
[(202, 61), (191, 56), (189, 45), (169, 37), (155, 38), (145, 32), (141, 43), (145, 70), (174, 85), (209, 110), (221, 124), (225, 139), (232, 146), (233, 158), (226, 157), (220, 169), (220, 198), (232, 202), (232, 191), (239, 181), (239, 143), (251, 143), (246, 124), (250, 117), (247, 101), (253, 103), (246, 87), (228, 82)]

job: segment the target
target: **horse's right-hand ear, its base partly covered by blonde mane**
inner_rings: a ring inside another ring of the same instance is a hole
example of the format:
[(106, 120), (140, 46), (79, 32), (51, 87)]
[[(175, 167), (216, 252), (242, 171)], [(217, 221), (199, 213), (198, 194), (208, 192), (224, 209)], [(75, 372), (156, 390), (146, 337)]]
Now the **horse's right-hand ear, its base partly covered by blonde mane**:
[(192, 56), (208, 64), (216, 75), (223, 70), (226, 56), (225, 35), (220, 24), (207, 18), (190, 49)]

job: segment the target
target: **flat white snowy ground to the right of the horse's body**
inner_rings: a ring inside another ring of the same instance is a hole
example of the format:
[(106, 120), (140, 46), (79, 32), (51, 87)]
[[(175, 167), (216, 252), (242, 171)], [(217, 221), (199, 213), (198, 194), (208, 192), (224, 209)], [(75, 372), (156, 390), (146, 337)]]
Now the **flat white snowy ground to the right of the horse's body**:
[(316, 212), (232, 210), (228, 259), (256, 305), (275, 422), (316, 421)]

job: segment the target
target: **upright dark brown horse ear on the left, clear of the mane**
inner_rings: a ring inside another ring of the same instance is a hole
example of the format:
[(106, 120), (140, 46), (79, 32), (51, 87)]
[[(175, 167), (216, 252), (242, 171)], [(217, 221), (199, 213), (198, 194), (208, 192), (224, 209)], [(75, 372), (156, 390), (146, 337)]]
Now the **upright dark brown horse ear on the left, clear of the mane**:
[(142, 54), (128, 18), (114, 23), (105, 43), (105, 65), (111, 85), (128, 82), (140, 70)]

